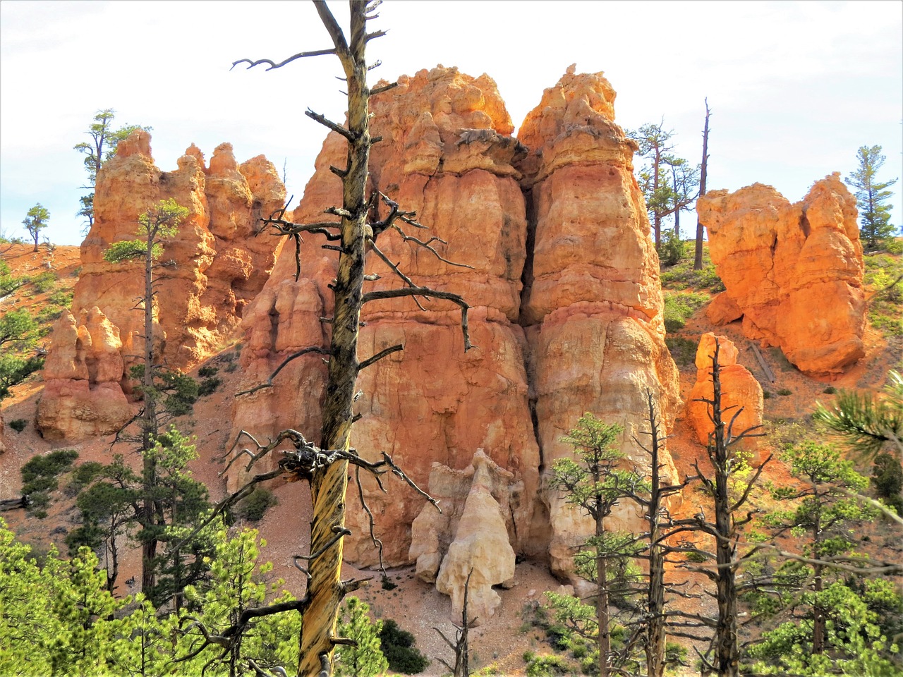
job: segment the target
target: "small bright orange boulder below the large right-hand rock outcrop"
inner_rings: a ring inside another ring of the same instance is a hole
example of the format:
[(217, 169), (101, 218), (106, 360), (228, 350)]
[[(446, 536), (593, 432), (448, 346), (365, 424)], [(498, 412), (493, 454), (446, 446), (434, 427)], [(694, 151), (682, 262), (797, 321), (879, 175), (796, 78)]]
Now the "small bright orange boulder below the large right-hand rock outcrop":
[[(731, 422), (731, 434), (738, 436), (743, 431), (753, 430), (762, 424), (764, 399), (762, 386), (755, 376), (743, 365), (737, 364), (739, 354), (733, 341), (726, 336), (716, 336), (711, 332), (703, 334), (696, 348), (696, 383), (687, 397), (687, 422), (696, 432), (696, 439), (707, 444), (714, 431), (711, 407), (703, 400), (712, 400), (712, 368), (715, 342), (718, 342), (719, 380), (721, 381), (722, 419)], [(754, 446), (753, 438), (748, 438), (748, 446)]]

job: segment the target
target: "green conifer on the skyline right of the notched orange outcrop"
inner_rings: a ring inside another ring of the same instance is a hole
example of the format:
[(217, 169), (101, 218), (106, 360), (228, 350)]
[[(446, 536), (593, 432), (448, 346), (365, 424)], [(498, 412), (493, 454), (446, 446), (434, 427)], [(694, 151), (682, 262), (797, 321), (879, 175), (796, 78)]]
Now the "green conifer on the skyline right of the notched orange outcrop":
[(888, 189), (897, 179), (878, 181), (878, 172), (887, 159), (881, 154), (880, 145), (861, 146), (856, 159), (859, 168), (850, 173), (846, 182), (855, 189), (862, 242), (869, 249), (877, 249), (897, 231), (897, 227), (890, 223), (893, 206), (887, 202), (893, 195), (893, 191)]

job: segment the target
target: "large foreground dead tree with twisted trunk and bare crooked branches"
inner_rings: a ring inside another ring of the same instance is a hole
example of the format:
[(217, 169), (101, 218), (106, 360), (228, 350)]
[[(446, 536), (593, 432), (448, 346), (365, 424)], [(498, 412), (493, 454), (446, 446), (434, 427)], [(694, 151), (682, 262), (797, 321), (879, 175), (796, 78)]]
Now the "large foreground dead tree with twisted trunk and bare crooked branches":
[[(340, 134), (348, 142), (347, 166), (345, 168), (330, 167), (330, 170), (336, 173), (342, 181), (342, 205), (340, 208), (327, 209), (326, 213), (338, 217), (340, 220), (295, 224), (284, 219), (285, 209), (264, 219), (265, 224), (275, 227), (278, 233), (293, 237), (298, 264), (296, 277), (300, 274), (300, 257), (297, 255), (297, 247), (303, 233), (319, 234), (330, 243), (338, 243), (338, 245), (328, 244), (324, 247), (339, 252), (338, 271), (335, 280), (330, 285), (335, 308), (330, 322), (331, 343), (327, 350), (317, 350), (317, 352), (325, 352), (328, 355), (326, 394), (322, 404), (320, 449), (312, 447), (305, 441), (300, 448), (295, 445), (296, 451), (286, 453), (280, 463), (282, 474), (294, 474), (295, 478), (309, 481), (313, 503), (311, 554), (303, 558), (309, 561), (306, 570), (308, 586), (304, 598), (293, 606), (296, 610), (303, 612), (301, 658), (298, 668), (299, 675), (303, 675), (303, 677), (328, 676), (331, 673), (331, 657), (335, 645), (348, 641), (336, 637), (335, 628), (341, 599), (350, 589), (356, 587), (355, 583), (340, 579), (342, 538), (349, 533), (345, 528), (345, 496), (348, 488), (349, 463), (374, 472), (388, 467), (396, 474), (400, 472), (386, 455), (384, 455), (383, 461), (369, 464), (360, 459), (355, 450), (350, 449), (349, 446), (351, 425), (354, 422), (352, 403), (354, 402), (358, 372), (372, 365), (377, 359), (402, 349), (401, 346), (386, 348), (377, 355), (358, 362), (358, 327), (362, 305), (368, 301), (402, 297), (412, 297), (418, 305), (420, 305), (418, 297), (452, 301), (461, 307), (464, 348), (465, 350), (471, 348), (467, 329), (468, 305), (461, 296), (415, 285), (377, 247), (378, 236), (388, 230), (394, 230), (405, 241), (413, 242), (415, 246), (424, 246), (434, 255), (439, 256), (432, 246), (437, 238), (431, 238), (424, 242), (407, 236), (403, 232), (401, 223), (412, 227), (422, 227), (414, 220), (416, 216), (414, 212), (405, 212), (399, 209), (399, 206), (391, 199), (380, 195), (389, 211), (386, 218), (379, 219), (378, 209), (376, 209), (377, 200), (368, 199), (365, 194), (370, 147), (380, 140), (379, 137), (370, 136), (369, 98), (395, 86), (386, 85), (371, 90), (367, 85), (367, 72), (372, 67), (368, 67), (365, 60), (365, 47), (369, 41), (385, 35), (384, 31), (367, 32), (367, 22), (377, 18), (374, 10), (380, 2), (381, 0), (375, 0), (375, 2), (367, 4), (360, 0), (351, 0), (349, 3), (349, 41), (346, 41), (344, 33), (325, 2), (313, 0), (321, 22), (330, 34), (333, 43), (331, 49), (303, 51), (279, 63), (268, 59), (240, 59), (233, 63), (233, 67), (238, 63), (247, 63), (248, 68), (266, 64), (269, 67), (266, 70), (274, 70), (303, 57), (330, 54), (340, 60), (347, 83), (347, 126), (332, 122), (310, 109), (306, 112), (307, 116)], [(377, 213), (377, 218), (371, 221), (368, 217), (373, 211)], [(393, 273), (402, 279), (405, 284), (403, 288), (364, 292), (365, 281), (376, 279), (375, 276), (367, 275), (364, 271), (368, 249), (372, 249)], [(440, 258), (442, 257), (440, 256)], [(442, 260), (451, 263), (447, 259)], [(291, 441), (295, 439), (293, 435), (296, 435), (303, 441), (303, 437), (295, 431), (285, 432), (293, 434), (283, 436), (281, 433), (279, 437), (283, 440)], [(258, 444), (256, 453), (248, 453), (253, 462), (266, 451), (273, 449), (275, 446), (272, 444), (265, 446)], [(265, 475), (274, 476), (273, 473)], [(263, 476), (258, 477), (262, 478)], [(255, 478), (252, 482), (257, 479)], [(284, 609), (276, 609), (273, 613), (281, 610)], [(241, 630), (241, 628), (230, 629), (232, 634)]]

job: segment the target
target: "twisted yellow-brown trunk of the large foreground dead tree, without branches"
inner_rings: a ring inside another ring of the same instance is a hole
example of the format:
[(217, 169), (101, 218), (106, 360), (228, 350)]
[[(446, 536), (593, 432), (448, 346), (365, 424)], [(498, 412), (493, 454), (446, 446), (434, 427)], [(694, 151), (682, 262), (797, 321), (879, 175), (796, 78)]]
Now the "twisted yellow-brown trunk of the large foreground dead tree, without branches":
[[(368, 161), (372, 141), (369, 134), (367, 42), (363, 2), (351, 3), (350, 46), (341, 50), (338, 24), (323, 3), (317, 12), (333, 41), (348, 84), (347, 174), (342, 179), (341, 251), (334, 287), (335, 315), (326, 399), (323, 403), (321, 449), (348, 450), (353, 418), (354, 386), (358, 377), (358, 325), (364, 282), (364, 226), (368, 204), (365, 197)], [(311, 552), (325, 551), (311, 562), (308, 584), (309, 606), (304, 612), (301, 635), (299, 675), (330, 674), (336, 619), (344, 591), (341, 586), (342, 539), (335, 539), (345, 527), (345, 492), (348, 487), (348, 461), (331, 463), (314, 471), (311, 481), (313, 519)], [(335, 543), (327, 547), (330, 541)]]

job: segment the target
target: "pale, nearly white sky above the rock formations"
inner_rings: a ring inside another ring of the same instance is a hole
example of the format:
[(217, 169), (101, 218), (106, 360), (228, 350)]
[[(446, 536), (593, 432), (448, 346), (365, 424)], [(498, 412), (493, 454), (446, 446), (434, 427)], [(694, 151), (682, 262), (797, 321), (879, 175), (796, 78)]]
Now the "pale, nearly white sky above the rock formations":
[[(346, 3), (330, 7), (347, 25)], [(369, 28), (388, 32), (368, 44), (368, 60), (382, 62), (374, 82), (437, 64), (485, 72), (516, 127), (576, 63), (604, 71), (619, 125), (664, 118), (675, 153), (697, 163), (708, 97), (709, 190), (758, 181), (797, 201), (825, 175), (854, 171), (861, 145), (882, 146), (880, 179), (903, 176), (899, 0), (386, 0), (378, 12)], [(27, 236), (22, 220), (41, 202), (44, 234), (80, 243), (87, 177), (72, 147), (103, 108), (116, 110), (116, 126), (153, 127), (163, 171), (192, 143), (208, 158), (222, 142), (238, 162), (265, 154), (296, 205), (326, 132), (304, 110), (344, 117), (339, 62), (229, 69), (331, 46), (300, 1), (2, 0), (0, 233)], [(897, 226), (900, 188), (889, 199)]]

